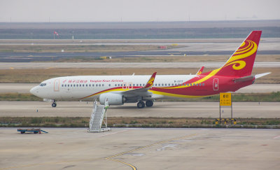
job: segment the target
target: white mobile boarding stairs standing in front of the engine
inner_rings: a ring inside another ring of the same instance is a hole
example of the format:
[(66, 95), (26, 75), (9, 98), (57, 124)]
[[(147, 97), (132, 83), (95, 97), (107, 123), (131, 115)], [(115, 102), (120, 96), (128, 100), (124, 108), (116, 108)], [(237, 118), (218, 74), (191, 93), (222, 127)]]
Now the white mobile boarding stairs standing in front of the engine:
[(110, 130), (111, 128), (107, 127), (107, 115), (105, 106), (98, 105), (97, 101), (94, 101), (92, 107), (92, 115), (90, 116), (90, 127), (87, 132), (104, 132)]

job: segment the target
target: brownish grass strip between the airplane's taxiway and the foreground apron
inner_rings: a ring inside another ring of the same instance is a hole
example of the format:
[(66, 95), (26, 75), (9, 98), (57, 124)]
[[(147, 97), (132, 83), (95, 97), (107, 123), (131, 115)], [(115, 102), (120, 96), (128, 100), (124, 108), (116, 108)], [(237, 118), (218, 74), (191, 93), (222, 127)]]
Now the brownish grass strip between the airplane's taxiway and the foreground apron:
[[(88, 127), (89, 120), (80, 117), (1, 117), (0, 127)], [(109, 127), (219, 127), (215, 122), (215, 118), (108, 118)], [(231, 125), (231, 122), (227, 124)], [(279, 126), (280, 118), (237, 118), (237, 125)]]

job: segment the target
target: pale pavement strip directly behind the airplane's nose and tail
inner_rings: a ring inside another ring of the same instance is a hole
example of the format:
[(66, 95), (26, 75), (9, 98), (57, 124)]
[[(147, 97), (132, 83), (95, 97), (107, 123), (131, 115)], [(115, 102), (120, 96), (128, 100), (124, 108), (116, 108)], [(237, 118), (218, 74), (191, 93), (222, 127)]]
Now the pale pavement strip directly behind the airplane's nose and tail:
[[(29, 93), (38, 83), (0, 83), (0, 93)], [(253, 84), (237, 90), (236, 93), (280, 92), (279, 84)]]

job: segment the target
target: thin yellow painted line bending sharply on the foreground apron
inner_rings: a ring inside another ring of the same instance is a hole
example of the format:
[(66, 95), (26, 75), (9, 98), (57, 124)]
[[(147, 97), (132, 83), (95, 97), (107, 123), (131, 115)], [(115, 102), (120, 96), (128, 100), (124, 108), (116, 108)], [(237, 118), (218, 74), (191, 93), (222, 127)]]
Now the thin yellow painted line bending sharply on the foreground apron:
[(177, 137), (177, 138), (173, 138), (173, 139), (167, 139), (167, 140), (165, 140), (165, 141), (159, 141), (159, 142), (153, 143), (153, 144), (148, 145), (148, 146), (142, 146), (142, 147), (140, 147), (140, 148), (136, 148), (136, 149), (133, 149), (133, 150), (129, 150), (129, 151), (127, 151), (127, 152), (118, 153), (118, 154), (113, 155), (113, 156), (111, 156), (111, 157), (105, 157), (104, 159), (105, 159), (105, 160), (115, 161), (115, 162), (120, 162), (120, 163), (122, 163), (122, 164), (126, 164), (127, 166), (131, 167), (133, 170), (137, 170), (137, 167), (135, 167), (135, 166), (132, 165), (132, 164), (128, 164), (128, 163), (126, 163), (126, 162), (122, 162), (122, 161), (119, 161), (119, 160), (116, 160), (116, 159), (112, 159), (112, 158), (113, 158), (113, 157), (118, 157), (118, 156), (120, 156), (120, 155), (125, 155), (125, 154), (127, 154), (127, 153), (132, 153), (132, 152), (137, 151), (137, 150), (143, 150), (143, 149), (145, 149), (145, 148), (150, 148), (150, 147), (152, 147), (152, 146), (155, 146), (155, 145), (158, 145), (158, 144), (161, 144), (161, 143), (167, 143), (167, 142), (169, 142), (169, 141), (175, 141), (175, 140), (180, 140), (180, 139), (185, 139), (185, 138), (193, 137), (193, 136), (195, 136), (195, 135), (197, 135), (197, 134), (189, 134), (189, 135), (186, 135), (186, 136), (181, 136), (181, 137)]

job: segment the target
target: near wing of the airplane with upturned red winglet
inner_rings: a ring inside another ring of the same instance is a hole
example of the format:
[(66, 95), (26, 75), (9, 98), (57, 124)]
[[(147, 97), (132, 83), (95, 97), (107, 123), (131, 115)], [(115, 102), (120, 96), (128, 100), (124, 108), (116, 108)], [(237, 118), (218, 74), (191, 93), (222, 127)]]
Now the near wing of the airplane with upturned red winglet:
[(153, 75), (151, 76), (151, 78), (148, 80), (148, 82), (146, 83), (146, 85), (144, 87), (138, 88), (138, 89), (133, 89), (133, 90), (128, 90), (125, 92), (122, 92), (125, 96), (131, 96), (131, 95), (148, 95), (151, 94), (151, 92), (148, 92), (149, 89), (151, 89), (151, 87), (153, 86), (153, 82), (155, 81), (155, 75), (157, 74), (157, 72), (153, 73)]

